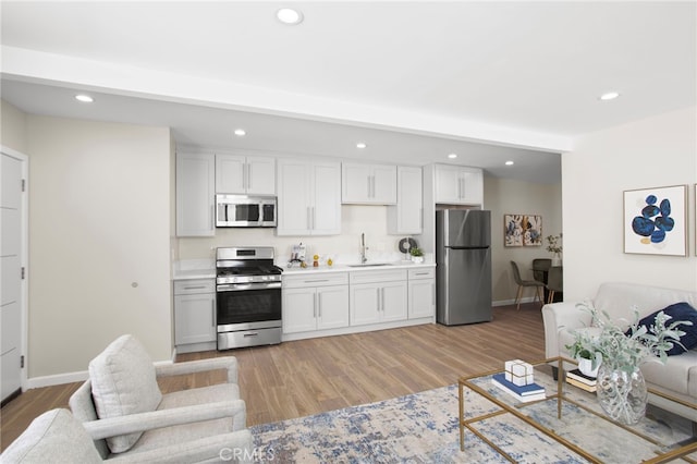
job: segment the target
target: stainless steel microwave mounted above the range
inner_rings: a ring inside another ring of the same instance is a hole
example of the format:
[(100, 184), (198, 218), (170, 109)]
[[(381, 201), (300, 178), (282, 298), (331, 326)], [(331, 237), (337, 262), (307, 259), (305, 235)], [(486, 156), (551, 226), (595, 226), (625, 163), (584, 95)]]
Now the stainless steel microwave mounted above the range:
[(274, 228), (276, 197), (216, 195), (217, 228)]

